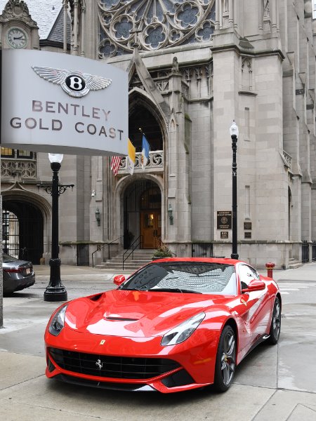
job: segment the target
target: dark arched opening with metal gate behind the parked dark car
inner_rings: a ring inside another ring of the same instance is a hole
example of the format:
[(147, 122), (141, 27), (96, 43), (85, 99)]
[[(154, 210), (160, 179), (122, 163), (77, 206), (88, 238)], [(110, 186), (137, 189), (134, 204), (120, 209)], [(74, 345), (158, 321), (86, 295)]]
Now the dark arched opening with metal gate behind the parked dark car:
[(37, 206), (4, 198), (2, 229), (6, 253), (39, 265), (44, 250), (44, 218)]

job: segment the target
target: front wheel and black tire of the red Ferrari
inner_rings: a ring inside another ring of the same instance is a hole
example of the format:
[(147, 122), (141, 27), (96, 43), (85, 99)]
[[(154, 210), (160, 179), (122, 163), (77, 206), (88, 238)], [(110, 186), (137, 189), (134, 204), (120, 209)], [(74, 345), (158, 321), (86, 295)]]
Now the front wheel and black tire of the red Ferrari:
[(226, 392), (232, 384), (236, 368), (236, 335), (230, 326), (225, 326), (220, 335), (216, 354), (213, 388)]

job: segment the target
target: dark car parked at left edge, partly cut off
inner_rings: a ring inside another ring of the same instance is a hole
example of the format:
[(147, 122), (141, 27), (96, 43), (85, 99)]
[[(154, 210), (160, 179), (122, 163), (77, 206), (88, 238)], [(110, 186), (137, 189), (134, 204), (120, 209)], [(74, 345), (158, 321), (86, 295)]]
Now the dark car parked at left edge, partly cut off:
[(3, 254), (4, 295), (32, 286), (35, 274), (32, 262), (18, 260), (13, 256)]

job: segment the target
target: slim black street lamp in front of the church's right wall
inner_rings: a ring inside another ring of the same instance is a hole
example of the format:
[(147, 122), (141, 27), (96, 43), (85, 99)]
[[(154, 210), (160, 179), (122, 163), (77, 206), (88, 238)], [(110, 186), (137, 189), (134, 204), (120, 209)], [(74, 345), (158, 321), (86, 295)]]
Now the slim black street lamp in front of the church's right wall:
[(239, 135), (238, 126), (232, 120), (230, 126), (230, 137), (232, 138), (232, 259), (238, 259), (237, 253), (237, 138)]

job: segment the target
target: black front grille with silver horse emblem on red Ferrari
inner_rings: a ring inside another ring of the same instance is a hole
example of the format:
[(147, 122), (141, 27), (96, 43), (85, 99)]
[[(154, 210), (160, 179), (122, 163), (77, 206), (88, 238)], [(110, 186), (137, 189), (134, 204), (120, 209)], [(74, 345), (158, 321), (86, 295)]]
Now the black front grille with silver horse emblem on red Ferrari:
[(50, 348), (49, 353), (63, 370), (98, 377), (145, 380), (180, 367), (176, 361), (163, 358), (84, 354), (58, 348)]

